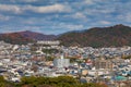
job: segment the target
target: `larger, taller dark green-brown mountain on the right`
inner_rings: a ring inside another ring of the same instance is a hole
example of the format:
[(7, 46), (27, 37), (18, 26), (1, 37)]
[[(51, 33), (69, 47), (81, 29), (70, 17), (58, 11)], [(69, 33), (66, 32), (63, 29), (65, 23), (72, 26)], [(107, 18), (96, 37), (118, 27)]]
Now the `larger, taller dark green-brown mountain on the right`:
[(94, 27), (91, 29), (62, 34), (58, 40), (64, 46), (82, 47), (121, 47), (131, 46), (131, 27), (122, 24), (111, 27)]

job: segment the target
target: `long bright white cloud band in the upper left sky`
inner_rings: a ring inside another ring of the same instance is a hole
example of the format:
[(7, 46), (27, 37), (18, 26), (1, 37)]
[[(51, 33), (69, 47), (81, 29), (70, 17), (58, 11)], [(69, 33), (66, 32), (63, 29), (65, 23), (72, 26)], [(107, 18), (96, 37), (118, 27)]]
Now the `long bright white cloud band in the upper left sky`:
[(52, 5), (14, 5), (14, 4), (0, 4), (0, 11), (12, 12), (12, 13), (23, 13), (25, 11), (33, 11), (36, 13), (61, 13), (61, 12), (71, 12), (71, 8), (63, 4), (52, 4)]

